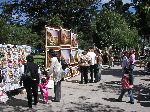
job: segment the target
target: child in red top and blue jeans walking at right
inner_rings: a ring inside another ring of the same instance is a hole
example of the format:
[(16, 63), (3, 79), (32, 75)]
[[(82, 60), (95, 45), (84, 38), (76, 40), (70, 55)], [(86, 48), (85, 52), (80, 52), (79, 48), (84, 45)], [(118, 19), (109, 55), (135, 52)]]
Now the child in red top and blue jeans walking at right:
[(126, 92), (128, 92), (128, 95), (130, 97), (129, 103), (134, 104), (134, 98), (133, 98), (133, 93), (132, 93), (133, 81), (132, 81), (131, 74), (129, 73), (129, 69), (127, 69), (127, 68), (125, 69), (125, 73), (122, 76), (121, 84), (122, 84), (122, 90), (121, 90), (121, 94), (120, 94), (119, 98), (117, 99), (117, 101), (121, 102), (123, 95)]

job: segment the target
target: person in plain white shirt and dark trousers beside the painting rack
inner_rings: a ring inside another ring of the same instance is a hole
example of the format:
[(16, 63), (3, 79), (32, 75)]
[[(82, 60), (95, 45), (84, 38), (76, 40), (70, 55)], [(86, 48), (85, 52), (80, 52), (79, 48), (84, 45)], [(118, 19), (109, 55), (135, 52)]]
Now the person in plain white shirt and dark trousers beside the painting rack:
[(94, 53), (94, 49), (90, 48), (87, 55), (90, 57), (90, 60), (91, 60), (91, 63), (90, 63), (90, 77), (91, 77), (91, 80), (89, 82), (92, 83), (93, 82), (93, 74), (94, 74), (94, 77), (96, 77), (96, 68), (95, 68), (96, 54)]

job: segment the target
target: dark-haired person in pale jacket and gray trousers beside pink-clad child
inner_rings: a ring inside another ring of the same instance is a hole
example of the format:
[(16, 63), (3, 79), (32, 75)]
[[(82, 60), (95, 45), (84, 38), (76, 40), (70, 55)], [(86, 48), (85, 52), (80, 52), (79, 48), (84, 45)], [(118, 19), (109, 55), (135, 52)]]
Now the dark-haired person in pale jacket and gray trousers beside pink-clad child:
[(49, 75), (53, 73), (54, 78), (54, 93), (55, 93), (55, 102), (60, 102), (61, 99), (61, 80), (63, 79), (63, 69), (61, 66), (61, 63), (58, 61), (57, 54), (53, 49), (49, 50), (49, 56), (50, 56), (50, 69), (49, 69)]

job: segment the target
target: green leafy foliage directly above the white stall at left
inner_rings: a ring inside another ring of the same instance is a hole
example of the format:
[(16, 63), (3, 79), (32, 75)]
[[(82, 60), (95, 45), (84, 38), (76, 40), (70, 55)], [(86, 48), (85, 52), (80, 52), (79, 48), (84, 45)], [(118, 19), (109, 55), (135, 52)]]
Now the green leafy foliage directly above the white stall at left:
[(24, 26), (9, 25), (4, 21), (0, 21), (0, 37), (1, 43), (17, 44), (17, 45), (30, 45), (36, 47), (39, 41), (39, 36), (32, 32), (31, 28)]

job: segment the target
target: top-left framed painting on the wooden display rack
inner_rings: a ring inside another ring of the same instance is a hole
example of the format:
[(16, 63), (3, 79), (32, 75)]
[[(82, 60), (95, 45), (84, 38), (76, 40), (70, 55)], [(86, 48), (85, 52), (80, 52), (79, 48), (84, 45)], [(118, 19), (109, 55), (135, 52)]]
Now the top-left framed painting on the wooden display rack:
[(59, 46), (60, 29), (46, 27), (46, 46)]

